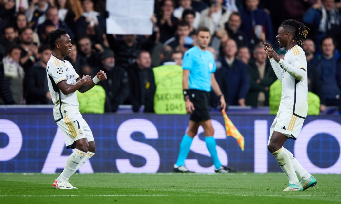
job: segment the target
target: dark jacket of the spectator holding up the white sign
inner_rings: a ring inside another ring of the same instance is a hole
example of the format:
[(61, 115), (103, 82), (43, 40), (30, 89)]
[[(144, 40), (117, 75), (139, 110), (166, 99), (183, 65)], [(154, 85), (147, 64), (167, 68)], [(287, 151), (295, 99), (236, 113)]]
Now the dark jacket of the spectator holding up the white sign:
[(110, 49), (115, 53), (116, 65), (125, 69), (135, 63), (137, 54), (140, 50), (151, 51), (155, 44), (155, 39), (156, 32), (153, 32), (148, 39), (136, 39), (133, 46), (129, 47), (122, 39), (115, 39), (112, 34), (107, 34)]

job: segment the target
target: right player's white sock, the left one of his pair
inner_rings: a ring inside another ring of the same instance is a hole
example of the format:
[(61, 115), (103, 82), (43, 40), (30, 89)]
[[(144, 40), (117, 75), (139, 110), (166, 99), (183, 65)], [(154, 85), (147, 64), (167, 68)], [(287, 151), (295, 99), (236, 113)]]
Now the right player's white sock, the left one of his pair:
[(273, 152), (272, 155), (275, 157), (275, 159), (277, 160), (277, 163), (280, 165), (281, 169), (288, 177), (289, 183), (299, 185), (300, 182), (297, 179), (294, 167), (292, 166), (291, 161), (290, 161), (290, 157), (286, 153), (286, 151), (284, 151), (283, 147)]

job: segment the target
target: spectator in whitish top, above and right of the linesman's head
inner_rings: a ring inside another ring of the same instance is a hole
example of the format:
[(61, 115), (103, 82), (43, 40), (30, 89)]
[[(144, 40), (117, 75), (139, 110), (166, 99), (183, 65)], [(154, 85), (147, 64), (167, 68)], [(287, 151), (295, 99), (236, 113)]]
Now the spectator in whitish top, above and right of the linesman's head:
[(210, 0), (211, 6), (200, 13), (200, 26), (208, 27), (211, 35), (218, 28), (224, 28), (231, 12), (223, 6), (223, 0)]

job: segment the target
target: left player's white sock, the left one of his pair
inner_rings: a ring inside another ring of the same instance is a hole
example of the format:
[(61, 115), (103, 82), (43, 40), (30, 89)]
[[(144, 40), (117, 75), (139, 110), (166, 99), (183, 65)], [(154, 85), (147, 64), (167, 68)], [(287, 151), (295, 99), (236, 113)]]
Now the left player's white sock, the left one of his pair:
[(65, 168), (58, 177), (59, 180), (57, 180), (57, 182), (69, 181), (69, 178), (72, 176), (72, 174), (74, 174), (75, 169), (77, 168), (78, 164), (83, 159), (85, 154), (85, 152), (76, 149), (75, 152), (73, 152), (66, 161)]

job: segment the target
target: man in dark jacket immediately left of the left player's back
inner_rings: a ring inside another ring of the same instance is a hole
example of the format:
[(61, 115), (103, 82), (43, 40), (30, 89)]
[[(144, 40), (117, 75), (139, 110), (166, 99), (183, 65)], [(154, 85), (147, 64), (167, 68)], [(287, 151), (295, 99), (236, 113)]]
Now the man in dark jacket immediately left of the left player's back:
[(52, 104), (51, 94), (47, 84), (46, 64), (49, 61), (52, 50), (49, 45), (42, 45), (38, 49), (40, 60), (35, 62), (25, 76), (26, 104)]

